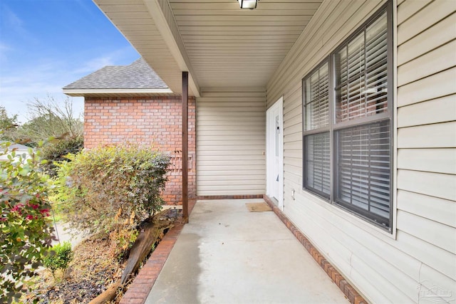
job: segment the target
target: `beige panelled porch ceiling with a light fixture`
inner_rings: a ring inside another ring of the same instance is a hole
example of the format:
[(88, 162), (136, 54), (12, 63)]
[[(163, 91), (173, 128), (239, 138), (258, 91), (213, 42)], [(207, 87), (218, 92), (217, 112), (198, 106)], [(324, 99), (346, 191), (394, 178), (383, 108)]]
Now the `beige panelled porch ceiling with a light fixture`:
[(93, 0), (175, 93), (265, 88), (323, 0)]

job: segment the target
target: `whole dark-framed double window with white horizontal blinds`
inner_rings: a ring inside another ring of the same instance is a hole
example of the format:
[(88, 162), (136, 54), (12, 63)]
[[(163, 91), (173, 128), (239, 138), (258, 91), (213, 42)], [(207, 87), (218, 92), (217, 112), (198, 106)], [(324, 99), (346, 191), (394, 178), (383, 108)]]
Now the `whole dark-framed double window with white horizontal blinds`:
[(388, 1), (303, 79), (304, 188), (389, 230), (391, 11)]

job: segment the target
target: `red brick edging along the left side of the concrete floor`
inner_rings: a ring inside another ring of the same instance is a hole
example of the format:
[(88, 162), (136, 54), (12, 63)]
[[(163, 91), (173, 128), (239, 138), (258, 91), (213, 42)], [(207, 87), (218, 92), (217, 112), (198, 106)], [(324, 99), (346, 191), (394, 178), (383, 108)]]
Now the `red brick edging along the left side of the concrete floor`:
[[(189, 200), (189, 214), (192, 212), (195, 203), (195, 200)], [(184, 224), (179, 223), (172, 227), (170, 231), (167, 231), (165, 237), (158, 243), (157, 248), (152, 252), (150, 258), (147, 259), (147, 263), (142, 266), (138, 275), (133, 279), (133, 282), (120, 300), (120, 304), (145, 303), (150, 290), (152, 290), (152, 286), (155, 284), (163, 266), (165, 266), (165, 262), (168, 256), (170, 256), (172, 247), (174, 247), (183, 228)]]

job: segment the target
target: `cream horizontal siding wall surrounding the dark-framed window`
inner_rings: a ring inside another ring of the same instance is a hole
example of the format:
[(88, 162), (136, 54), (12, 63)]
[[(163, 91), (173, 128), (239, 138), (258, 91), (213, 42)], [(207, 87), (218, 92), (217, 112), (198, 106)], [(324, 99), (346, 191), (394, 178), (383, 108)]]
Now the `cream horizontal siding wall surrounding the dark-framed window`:
[(381, 0), (323, 1), (269, 80), (266, 105), (284, 96), (284, 212), (366, 300), (423, 303), (437, 288), (452, 296), (428, 300), (454, 302), (456, 1), (398, 3), (395, 235), (301, 188), (301, 80), (385, 4)]

